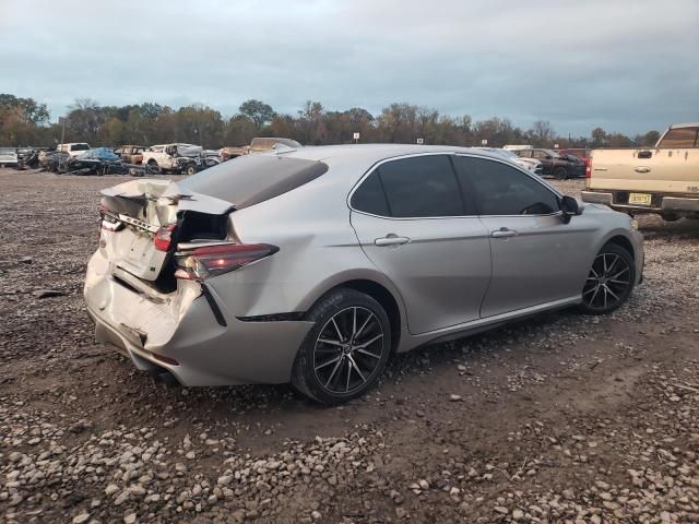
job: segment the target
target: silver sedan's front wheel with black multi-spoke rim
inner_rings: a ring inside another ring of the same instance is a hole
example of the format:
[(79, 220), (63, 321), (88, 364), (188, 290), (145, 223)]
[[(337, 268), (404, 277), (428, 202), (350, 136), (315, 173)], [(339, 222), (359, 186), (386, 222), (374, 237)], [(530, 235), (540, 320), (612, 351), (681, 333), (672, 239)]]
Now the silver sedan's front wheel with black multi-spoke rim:
[(592, 262), (582, 288), (580, 310), (585, 314), (606, 314), (629, 298), (636, 283), (636, 263), (626, 249), (605, 245)]

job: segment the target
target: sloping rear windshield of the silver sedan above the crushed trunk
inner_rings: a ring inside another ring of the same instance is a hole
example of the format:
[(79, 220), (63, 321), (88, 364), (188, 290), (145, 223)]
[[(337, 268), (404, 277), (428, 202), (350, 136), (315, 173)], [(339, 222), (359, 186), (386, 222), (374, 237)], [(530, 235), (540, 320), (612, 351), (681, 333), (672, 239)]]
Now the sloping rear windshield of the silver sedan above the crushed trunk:
[(250, 155), (225, 162), (178, 182), (197, 193), (249, 207), (315, 180), (328, 170), (322, 162)]

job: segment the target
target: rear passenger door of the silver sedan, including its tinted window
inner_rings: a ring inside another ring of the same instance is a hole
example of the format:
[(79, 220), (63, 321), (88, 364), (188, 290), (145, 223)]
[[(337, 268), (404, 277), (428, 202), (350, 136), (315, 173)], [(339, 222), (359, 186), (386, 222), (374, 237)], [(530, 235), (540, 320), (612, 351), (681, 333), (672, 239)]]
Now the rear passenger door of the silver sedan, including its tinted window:
[(403, 298), (411, 333), (478, 318), (490, 278), (488, 231), (449, 155), (384, 162), (351, 194), (362, 248)]

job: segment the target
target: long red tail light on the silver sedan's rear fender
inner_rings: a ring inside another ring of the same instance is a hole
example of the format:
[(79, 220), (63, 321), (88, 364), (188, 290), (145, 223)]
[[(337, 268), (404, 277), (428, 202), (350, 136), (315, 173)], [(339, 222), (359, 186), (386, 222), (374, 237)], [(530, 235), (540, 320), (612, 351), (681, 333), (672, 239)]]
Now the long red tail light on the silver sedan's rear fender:
[(210, 278), (244, 267), (276, 253), (276, 246), (269, 243), (232, 243), (199, 248), (178, 261), (177, 278)]

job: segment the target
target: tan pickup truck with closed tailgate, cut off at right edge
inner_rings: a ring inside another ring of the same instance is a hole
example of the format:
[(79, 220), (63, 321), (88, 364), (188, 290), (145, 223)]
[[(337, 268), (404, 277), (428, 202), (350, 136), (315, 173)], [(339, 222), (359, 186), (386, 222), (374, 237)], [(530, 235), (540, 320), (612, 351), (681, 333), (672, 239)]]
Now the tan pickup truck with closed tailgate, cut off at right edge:
[(655, 146), (592, 150), (583, 202), (665, 221), (699, 218), (699, 123), (676, 123)]

